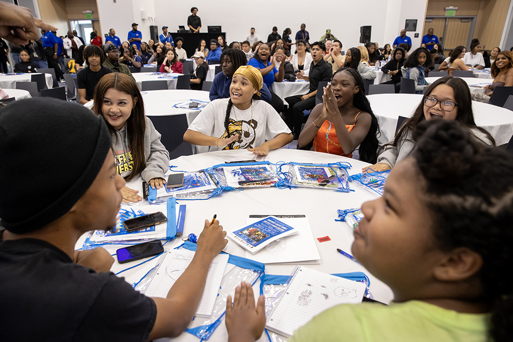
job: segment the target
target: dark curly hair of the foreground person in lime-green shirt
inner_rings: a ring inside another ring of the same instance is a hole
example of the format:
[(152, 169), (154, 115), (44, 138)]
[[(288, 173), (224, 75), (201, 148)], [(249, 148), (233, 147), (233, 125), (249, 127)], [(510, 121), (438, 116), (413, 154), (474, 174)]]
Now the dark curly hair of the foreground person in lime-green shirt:
[[(492, 307), (495, 342), (513, 340), (513, 156), (481, 144), (457, 120), (429, 120), (413, 133), (421, 200), (442, 251), (468, 248), (483, 260), (474, 275)], [(464, 281), (464, 280), (463, 280)]]

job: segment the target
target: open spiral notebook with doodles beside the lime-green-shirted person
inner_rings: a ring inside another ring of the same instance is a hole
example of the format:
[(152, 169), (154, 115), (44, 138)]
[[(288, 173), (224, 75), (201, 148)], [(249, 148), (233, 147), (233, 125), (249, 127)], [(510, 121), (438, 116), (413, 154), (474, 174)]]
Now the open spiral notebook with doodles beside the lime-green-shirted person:
[(266, 328), (290, 337), (329, 308), (361, 303), (364, 293), (362, 283), (298, 266), (267, 316)]

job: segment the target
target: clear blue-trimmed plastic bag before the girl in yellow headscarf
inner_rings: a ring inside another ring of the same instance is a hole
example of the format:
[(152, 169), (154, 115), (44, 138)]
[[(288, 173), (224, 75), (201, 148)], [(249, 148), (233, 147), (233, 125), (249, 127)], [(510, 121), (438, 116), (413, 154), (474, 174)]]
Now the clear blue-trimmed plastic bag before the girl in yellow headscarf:
[(220, 164), (212, 166), (209, 172), (223, 190), (268, 188), (280, 181), (269, 162)]

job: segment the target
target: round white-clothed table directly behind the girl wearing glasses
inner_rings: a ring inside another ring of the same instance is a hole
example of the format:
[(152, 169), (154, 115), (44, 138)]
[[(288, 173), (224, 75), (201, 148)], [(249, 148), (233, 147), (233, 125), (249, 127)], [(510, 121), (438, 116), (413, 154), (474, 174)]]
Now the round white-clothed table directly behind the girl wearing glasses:
[[(378, 118), (381, 136), (380, 145), (389, 143), (396, 134), (399, 116), (411, 117), (422, 100), (420, 94), (376, 94), (369, 95), (370, 106)], [(497, 145), (507, 144), (513, 135), (513, 115), (511, 111), (482, 102), (472, 101), (476, 125), (487, 130)]]

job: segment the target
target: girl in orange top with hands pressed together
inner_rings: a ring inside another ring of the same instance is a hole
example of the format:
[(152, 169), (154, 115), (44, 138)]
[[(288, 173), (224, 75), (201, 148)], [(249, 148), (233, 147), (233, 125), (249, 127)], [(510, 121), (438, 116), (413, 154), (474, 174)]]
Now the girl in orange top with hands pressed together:
[(362, 76), (357, 70), (341, 68), (323, 90), (323, 103), (315, 106), (298, 140), (318, 152), (351, 157), (358, 146), (360, 159), (376, 163), (378, 119), (365, 97)]

